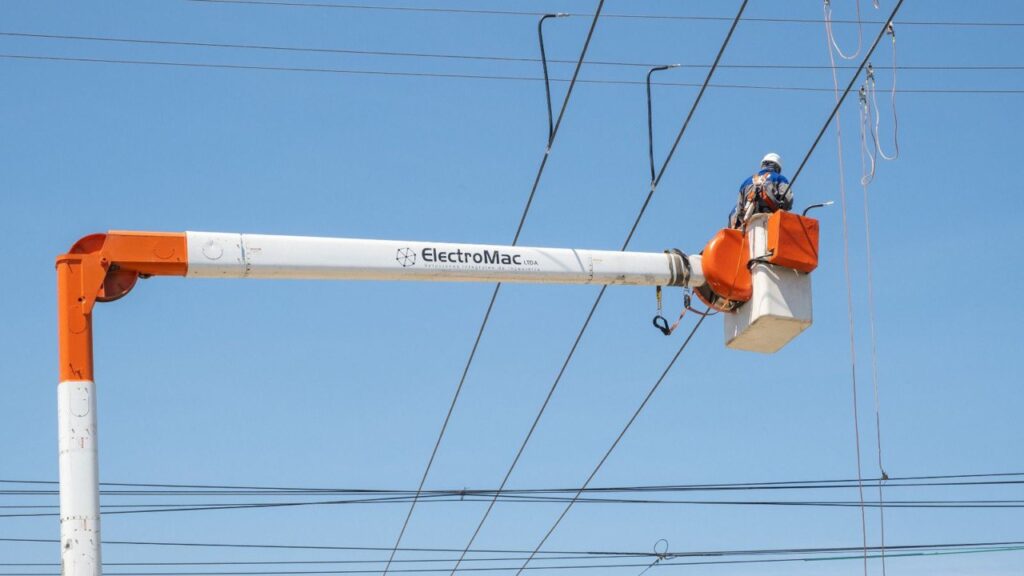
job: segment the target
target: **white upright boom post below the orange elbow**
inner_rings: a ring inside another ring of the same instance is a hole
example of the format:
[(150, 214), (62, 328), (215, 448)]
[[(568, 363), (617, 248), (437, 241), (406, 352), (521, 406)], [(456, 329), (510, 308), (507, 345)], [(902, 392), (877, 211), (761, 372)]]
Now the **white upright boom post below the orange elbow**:
[(62, 576), (99, 576), (99, 471), (96, 396), (91, 380), (57, 385), (60, 444), (60, 563)]

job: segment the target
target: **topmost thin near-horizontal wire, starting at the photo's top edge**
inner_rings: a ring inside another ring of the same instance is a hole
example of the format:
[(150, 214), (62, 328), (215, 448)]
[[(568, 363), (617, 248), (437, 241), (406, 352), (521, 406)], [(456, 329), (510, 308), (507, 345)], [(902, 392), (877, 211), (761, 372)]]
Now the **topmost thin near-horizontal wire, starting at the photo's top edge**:
[[(420, 12), (434, 14), (464, 14), (482, 16), (543, 16), (545, 12), (524, 11), (524, 10), (494, 10), (481, 8), (445, 8), (431, 6), (382, 6), (375, 4), (355, 4), (337, 2), (291, 2), (286, 0), (186, 0), (189, 2), (206, 4), (237, 4), (237, 5), (258, 5), (276, 6), (293, 8), (331, 8), (344, 10), (376, 10), (388, 12)], [(587, 16), (589, 14), (568, 14), (570, 16)], [(607, 13), (603, 16), (606, 19), (639, 19), (639, 20), (681, 20), (681, 22), (730, 22), (729, 16), (712, 15), (674, 15), (674, 14), (638, 14), (638, 13)], [(806, 24), (819, 25), (823, 19), (818, 18), (782, 18), (782, 17), (752, 17), (743, 18), (745, 23), (759, 24)], [(831, 24), (885, 24), (881, 20), (853, 20), (853, 19), (833, 19)], [(958, 28), (1021, 28), (1024, 23), (1019, 22), (970, 22), (970, 20), (900, 20), (900, 26), (925, 26), (925, 27), (958, 27)]]

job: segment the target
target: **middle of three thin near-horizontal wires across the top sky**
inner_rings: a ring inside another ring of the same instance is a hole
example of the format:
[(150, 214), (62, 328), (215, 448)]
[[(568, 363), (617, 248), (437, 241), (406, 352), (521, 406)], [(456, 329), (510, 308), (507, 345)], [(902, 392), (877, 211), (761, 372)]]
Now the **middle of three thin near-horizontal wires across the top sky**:
[[(369, 50), (356, 48), (318, 48), (312, 46), (285, 46), (281, 44), (253, 44), (253, 43), (225, 43), (225, 42), (201, 42), (189, 40), (167, 40), (154, 38), (126, 38), (118, 36), (89, 36), (70, 34), (43, 34), (35, 32), (10, 32), (0, 31), (0, 36), (11, 38), (32, 38), (41, 40), (72, 40), (83, 42), (105, 42), (123, 44), (142, 44), (153, 46), (188, 46), (196, 48), (224, 48), (233, 50), (255, 50), (255, 51), (282, 51), (299, 53), (321, 53), (321, 54), (349, 54), (369, 56), (394, 56), (412, 58), (435, 58), (445, 60), (470, 60), (470, 61), (501, 61), (501, 63), (527, 63), (540, 64), (541, 58), (530, 56), (513, 56), (500, 54), (455, 54), (444, 52), (422, 52), (422, 51), (399, 51), (399, 50)], [(548, 58), (549, 64), (575, 64), (575, 60)], [(607, 67), (635, 67), (650, 68), (656, 66), (652, 63), (620, 61), (620, 60), (587, 60), (588, 66)], [(681, 64), (679, 68), (687, 69), (708, 69), (711, 64)], [(778, 64), (719, 64), (718, 68), (733, 70), (829, 70), (830, 67), (824, 65), (778, 65)], [(854, 70), (857, 67), (839, 66), (838, 69)], [(934, 66), (899, 66), (902, 71), (922, 72), (1006, 72), (1024, 70), (1024, 66), (1017, 65), (934, 65)], [(876, 70), (892, 70), (893, 67), (879, 66)]]

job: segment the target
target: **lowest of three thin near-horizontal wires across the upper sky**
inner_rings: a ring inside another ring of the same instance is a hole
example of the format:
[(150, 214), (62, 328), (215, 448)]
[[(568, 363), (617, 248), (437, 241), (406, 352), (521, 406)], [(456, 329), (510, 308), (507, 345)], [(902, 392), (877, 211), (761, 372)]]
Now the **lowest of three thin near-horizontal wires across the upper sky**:
[[(338, 68), (318, 67), (285, 67), (285, 66), (255, 66), (237, 64), (208, 64), (208, 63), (183, 63), (172, 60), (140, 60), (123, 58), (92, 58), (78, 56), (51, 56), (43, 54), (12, 54), (0, 53), (0, 58), (29, 60), (29, 61), (66, 61), (79, 64), (109, 64), (109, 65), (131, 65), (131, 66), (156, 66), (166, 68), (194, 68), (207, 70), (238, 70), (238, 71), (260, 71), (260, 72), (297, 72), (313, 74), (340, 74), (355, 76), (381, 76), (381, 77), (404, 77), (404, 78), (433, 78), (433, 79), (456, 79), (456, 80), (495, 80), (495, 81), (518, 81), (518, 82), (543, 82), (544, 79), (531, 76), (501, 76), (486, 74), (449, 74), (436, 72), (394, 72), (384, 70), (354, 70)], [(552, 78), (552, 82), (569, 82), (571, 79)], [(577, 84), (595, 85), (620, 85), (620, 86), (642, 86), (642, 80), (604, 80), (604, 79), (578, 79)], [(653, 86), (673, 86), (683, 88), (699, 88), (698, 83), (687, 82), (651, 82)], [(831, 92), (831, 88), (810, 87), (810, 86), (782, 86), (765, 84), (708, 84), (709, 88), (718, 89), (739, 89), (739, 90), (769, 90), (783, 92)], [(1024, 94), (1024, 89), (1001, 89), (1001, 88), (900, 88), (897, 90), (903, 94)]]

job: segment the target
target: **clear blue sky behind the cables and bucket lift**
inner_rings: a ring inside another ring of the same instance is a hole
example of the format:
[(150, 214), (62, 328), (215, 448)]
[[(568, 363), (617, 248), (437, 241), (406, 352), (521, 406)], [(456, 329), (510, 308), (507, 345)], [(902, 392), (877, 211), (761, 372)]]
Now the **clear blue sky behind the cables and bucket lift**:
[[(884, 18), (893, 5), (883, 0), (874, 10), (870, 2), (861, 3), (870, 19)], [(421, 3), (395, 5), (414, 4)], [(834, 4), (837, 17), (853, 16), (851, 0)], [(596, 2), (422, 5), (586, 13)], [(731, 16), (737, 5), (609, 0), (606, 11)], [(818, 2), (752, 0), (748, 15), (818, 18), (821, 11)], [(0, 16), (2, 32), (538, 54), (536, 19), (526, 16), (179, 0), (9, 1), (0, 6)], [(907, 0), (900, 18), (1022, 22), (1024, 6), (1010, 0)], [(586, 17), (550, 23), (549, 55), (574, 59), (588, 24)], [(872, 38), (876, 27), (866, 26), (865, 36)], [(727, 28), (726, 22), (608, 18), (598, 25), (590, 57), (707, 64)], [(854, 30), (839, 30), (848, 49)], [(1024, 65), (1020, 27), (898, 26), (897, 34), (902, 65)], [(541, 72), (534, 63), (10, 36), (0, 36), (0, 53), (503, 76)], [(887, 64), (890, 54), (884, 44), (874, 60)], [(741, 23), (723, 61), (827, 65), (828, 56), (820, 24)], [(559, 78), (570, 72), (565, 65), (552, 69)], [(644, 69), (586, 67), (583, 74), (642, 80)], [(680, 69), (660, 78), (699, 82), (702, 74)], [(53, 258), (76, 239), (129, 229), (508, 243), (547, 130), (539, 82), (10, 58), (0, 58), (0, 78), (7, 290), (0, 323), (5, 383), (0, 479), (57, 476)], [(899, 85), (1024, 89), (1021, 80), (1020, 71), (905, 71)], [(827, 70), (722, 70), (716, 81), (831, 86)], [(889, 72), (880, 71), (880, 85), (890, 82)], [(564, 89), (565, 84), (554, 86), (559, 101)], [(695, 93), (656, 90), (659, 157)], [(710, 90), (632, 247), (699, 250), (724, 222), (735, 187), (761, 155), (780, 153), (791, 172), (831, 102), (829, 92)], [(883, 440), (891, 476), (1024, 470), (1019, 368), (1024, 304), (1018, 288), (1024, 279), (1018, 245), (1024, 238), (1017, 215), (1024, 193), (1022, 104), (1021, 94), (898, 97), (902, 155), (880, 166), (869, 189)], [(621, 245), (647, 189), (644, 106), (642, 86), (578, 86), (522, 244)], [(861, 444), (864, 476), (874, 477), (855, 99), (843, 109), (843, 129)], [(890, 130), (885, 119), (883, 136)], [(839, 181), (835, 131), (829, 131), (795, 189), (797, 205), (839, 200)], [(709, 321), (595, 485), (855, 477), (842, 218), (838, 204), (818, 214), (822, 254), (814, 275), (814, 326), (781, 353), (763, 357), (726, 349), (721, 320)], [(500, 482), (596, 291), (502, 290), (428, 488)], [(415, 488), (490, 292), (492, 286), (468, 284), (141, 282), (127, 298), (96, 311), (101, 480)], [(670, 291), (667, 301), (674, 312), (678, 294)], [(650, 327), (653, 308), (653, 290), (608, 290), (510, 487), (578, 486), (586, 479), (680, 343), (680, 337), (666, 338)], [(894, 489), (889, 495), (1019, 499), (1024, 492), (1010, 486)], [(750, 496), (855, 499), (856, 492)], [(104, 499), (104, 504), (133, 501), (142, 500)], [(0, 496), (0, 503), (55, 504), (56, 499)], [(404, 544), (461, 547), (482, 508), (422, 504)], [(476, 546), (532, 548), (559, 509), (500, 503)], [(105, 517), (102, 528), (108, 540), (389, 546), (406, 510), (406, 504), (386, 504), (125, 515)], [(886, 521), (891, 544), (1024, 539), (1019, 509), (891, 509)], [(868, 532), (877, 544), (873, 512)], [(0, 537), (57, 534), (55, 518), (0, 519)], [(674, 550), (857, 546), (859, 512), (581, 504), (547, 547), (648, 550), (659, 538)], [(109, 563), (339, 557), (355, 554), (104, 548)], [(4, 562), (57, 558), (56, 544), (0, 542)], [(0, 572), (12, 570), (17, 569)], [(854, 574), (861, 566), (853, 561), (658, 570)], [(880, 573), (879, 564), (871, 570)], [(893, 560), (889, 570), (1020, 574), (1024, 552)]]

